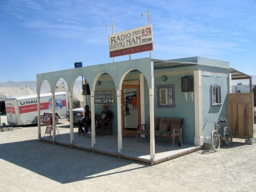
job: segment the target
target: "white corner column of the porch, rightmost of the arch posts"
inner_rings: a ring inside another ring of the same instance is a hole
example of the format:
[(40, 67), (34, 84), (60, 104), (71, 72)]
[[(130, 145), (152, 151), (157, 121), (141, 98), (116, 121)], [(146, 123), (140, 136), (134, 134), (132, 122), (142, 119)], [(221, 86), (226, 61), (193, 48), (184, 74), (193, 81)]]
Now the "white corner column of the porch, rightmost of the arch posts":
[(150, 159), (155, 159), (155, 129), (154, 129), (154, 76), (151, 77), (151, 89), (149, 89), (150, 110)]

